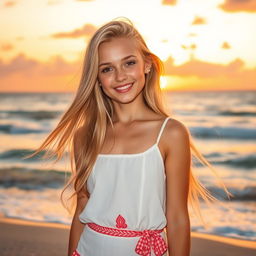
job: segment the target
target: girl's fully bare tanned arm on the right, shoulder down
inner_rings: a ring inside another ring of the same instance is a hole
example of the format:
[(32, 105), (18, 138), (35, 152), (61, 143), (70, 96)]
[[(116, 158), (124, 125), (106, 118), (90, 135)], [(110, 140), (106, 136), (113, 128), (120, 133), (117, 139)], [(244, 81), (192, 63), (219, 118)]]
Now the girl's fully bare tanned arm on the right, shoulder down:
[(189, 132), (179, 121), (168, 122), (165, 136), (166, 218), (168, 252), (189, 256), (190, 220), (187, 207), (191, 153)]

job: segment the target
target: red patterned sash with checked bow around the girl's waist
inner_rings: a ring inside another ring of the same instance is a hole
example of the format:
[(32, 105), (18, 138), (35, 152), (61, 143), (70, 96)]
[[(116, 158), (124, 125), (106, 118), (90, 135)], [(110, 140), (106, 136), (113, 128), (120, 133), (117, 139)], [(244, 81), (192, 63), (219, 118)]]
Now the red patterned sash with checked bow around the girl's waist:
[(135, 248), (135, 252), (138, 255), (151, 256), (151, 248), (156, 256), (162, 256), (167, 251), (166, 242), (160, 235), (164, 229), (137, 231), (103, 227), (96, 223), (87, 223), (87, 225), (94, 231), (105, 235), (118, 237), (141, 236)]

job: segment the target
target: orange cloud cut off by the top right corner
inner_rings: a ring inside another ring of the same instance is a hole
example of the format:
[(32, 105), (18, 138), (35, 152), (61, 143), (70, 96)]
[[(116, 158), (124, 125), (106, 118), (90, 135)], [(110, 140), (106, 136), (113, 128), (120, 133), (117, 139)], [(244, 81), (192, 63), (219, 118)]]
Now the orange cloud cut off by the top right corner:
[(226, 0), (219, 5), (226, 12), (256, 12), (255, 0)]

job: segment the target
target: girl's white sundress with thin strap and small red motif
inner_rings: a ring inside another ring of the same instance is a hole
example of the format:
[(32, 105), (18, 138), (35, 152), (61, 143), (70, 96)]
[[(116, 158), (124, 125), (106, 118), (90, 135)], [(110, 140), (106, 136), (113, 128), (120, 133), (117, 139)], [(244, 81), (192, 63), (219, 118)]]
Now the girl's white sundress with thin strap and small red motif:
[[(87, 181), (90, 198), (79, 216), (82, 223), (137, 231), (166, 227), (166, 176), (158, 143), (169, 118), (156, 143), (146, 151), (98, 155)], [(167, 244), (166, 232), (160, 235)], [(85, 225), (74, 255), (138, 256), (138, 240), (102, 234)], [(148, 255), (155, 255), (153, 249)], [(167, 252), (161, 255), (167, 256)]]

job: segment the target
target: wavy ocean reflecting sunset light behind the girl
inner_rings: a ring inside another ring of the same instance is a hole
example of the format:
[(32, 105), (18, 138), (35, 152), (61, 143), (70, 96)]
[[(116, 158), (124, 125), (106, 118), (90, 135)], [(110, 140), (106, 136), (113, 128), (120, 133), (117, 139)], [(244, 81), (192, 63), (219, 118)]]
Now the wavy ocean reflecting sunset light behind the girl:
[[(207, 227), (191, 216), (191, 230), (256, 241), (256, 91), (166, 92), (173, 118), (182, 121), (212, 164), (231, 199), (208, 167), (193, 160), (200, 182), (220, 200), (201, 203)], [(0, 216), (71, 223), (60, 203), (67, 160), (53, 165), (22, 160), (40, 145), (68, 108), (72, 93), (0, 94)]]

